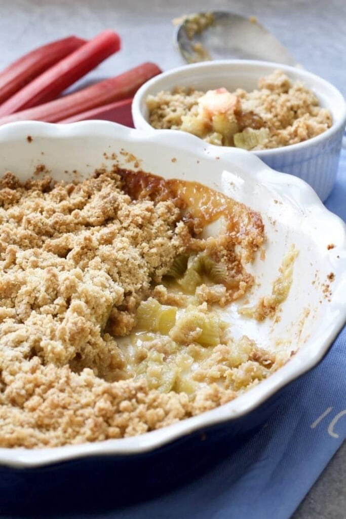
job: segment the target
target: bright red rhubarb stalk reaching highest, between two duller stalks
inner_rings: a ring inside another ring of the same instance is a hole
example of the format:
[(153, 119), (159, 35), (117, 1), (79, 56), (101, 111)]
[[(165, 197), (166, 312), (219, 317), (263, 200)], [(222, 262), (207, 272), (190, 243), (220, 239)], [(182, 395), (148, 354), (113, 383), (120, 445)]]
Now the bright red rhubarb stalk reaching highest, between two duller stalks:
[(0, 106), (0, 117), (55, 99), (119, 48), (119, 36), (113, 31), (102, 31), (12, 95)]

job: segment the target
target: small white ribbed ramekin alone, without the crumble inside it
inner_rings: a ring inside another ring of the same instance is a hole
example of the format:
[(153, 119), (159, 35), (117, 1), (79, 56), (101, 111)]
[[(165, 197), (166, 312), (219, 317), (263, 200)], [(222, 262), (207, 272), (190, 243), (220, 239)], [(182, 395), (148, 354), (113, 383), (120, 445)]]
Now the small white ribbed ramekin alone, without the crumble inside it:
[[(251, 152), (271, 168), (298, 176), (310, 184), (321, 200), (333, 189), (337, 174), (341, 141), (346, 124), (346, 102), (333, 85), (305, 70), (280, 63), (252, 60), (222, 60), (179, 67), (150, 79), (135, 94), (132, 103), (134, 125), (140, 130), (154, 130), (149, 123), (146, 98), (177, 85), (200, 90), (226, 87), (228, 90), (253, 90), (258, 78), (281, 69), (293, 80), (299, 79), (311, 89), (320, 104), (331, 112), (333, 126), (327, 131), (299, 144)], [(170, 130), (168, 130), (170, 131)], [(233, 150), (234, 148), (228, 148)]]

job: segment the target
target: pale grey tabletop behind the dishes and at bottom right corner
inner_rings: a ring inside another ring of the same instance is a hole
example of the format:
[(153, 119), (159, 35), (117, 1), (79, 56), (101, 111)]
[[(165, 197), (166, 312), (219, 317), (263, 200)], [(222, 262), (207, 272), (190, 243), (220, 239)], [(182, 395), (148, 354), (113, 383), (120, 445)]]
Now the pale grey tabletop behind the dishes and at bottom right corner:
[[(171, 43), (171, 19), (186, 10), (211, 7), (256, 16), (306, 69), (346, 94), (345, 0), (0, 0), (0, 67), (54, 38), (68, 34), (90, 37), (110, 28), (121, 35), (122, 51), (81, 83), (116, 75), (143, 61), (155, 61), (167, 70), (183, 64)], [(294, 519), (346, 517), (345, 467), (344, 444)]]

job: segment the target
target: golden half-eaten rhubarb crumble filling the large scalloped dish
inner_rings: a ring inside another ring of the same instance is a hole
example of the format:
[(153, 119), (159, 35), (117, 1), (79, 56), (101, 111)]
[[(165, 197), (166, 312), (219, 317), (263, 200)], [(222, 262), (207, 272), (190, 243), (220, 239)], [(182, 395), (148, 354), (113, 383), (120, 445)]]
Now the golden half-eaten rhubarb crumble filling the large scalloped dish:
[[(212, 222), (217, 236), (207, 236)], [(99, 170), (0, 180), (0, 446), (145, 433), (234, 399), (286, 358), (232, 338), (258, 213), (198, 183)]]

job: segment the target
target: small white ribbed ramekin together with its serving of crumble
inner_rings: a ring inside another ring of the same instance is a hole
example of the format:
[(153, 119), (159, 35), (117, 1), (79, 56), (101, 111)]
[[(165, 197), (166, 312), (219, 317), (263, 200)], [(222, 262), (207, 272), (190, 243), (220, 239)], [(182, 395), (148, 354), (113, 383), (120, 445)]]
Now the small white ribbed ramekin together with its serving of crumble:
[(248, 149), (273, 169), (299, 176), (325, 200), (337, 173), (346, 103), (333, 85), (307, 71), (225, 60), (149, 80), (135, 95), (132, 115), (139, 129), (181, 129)]

